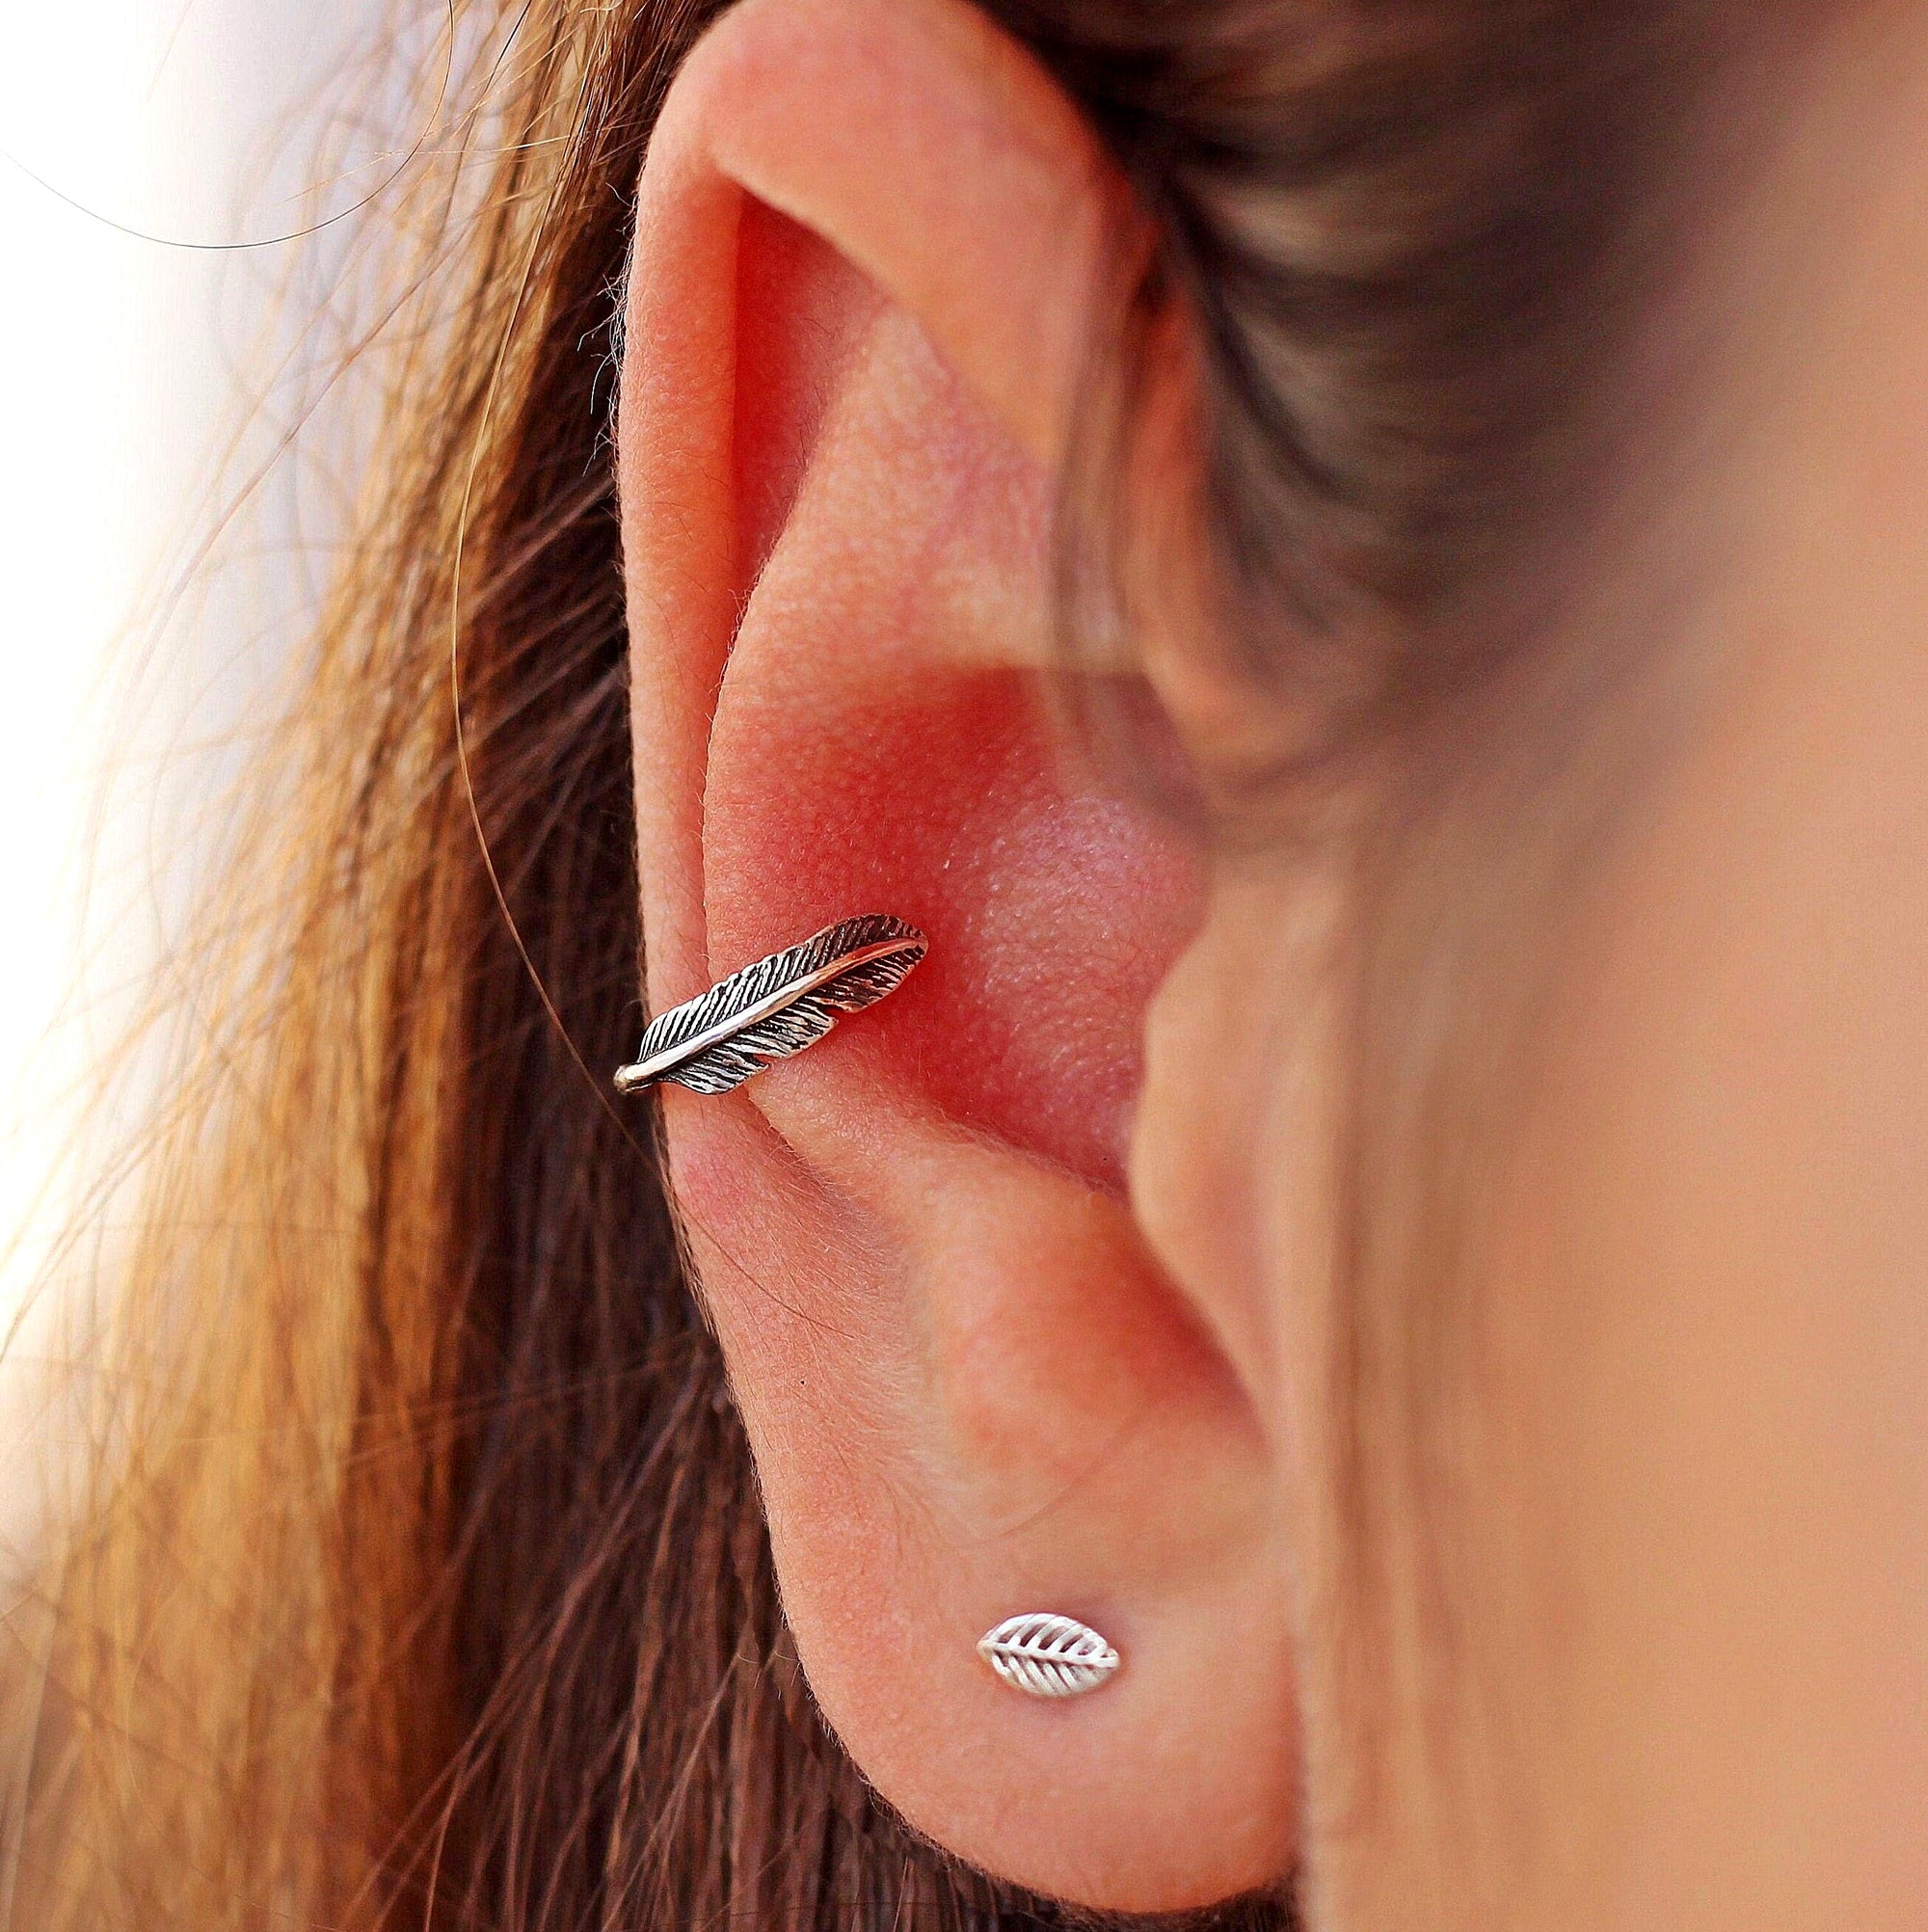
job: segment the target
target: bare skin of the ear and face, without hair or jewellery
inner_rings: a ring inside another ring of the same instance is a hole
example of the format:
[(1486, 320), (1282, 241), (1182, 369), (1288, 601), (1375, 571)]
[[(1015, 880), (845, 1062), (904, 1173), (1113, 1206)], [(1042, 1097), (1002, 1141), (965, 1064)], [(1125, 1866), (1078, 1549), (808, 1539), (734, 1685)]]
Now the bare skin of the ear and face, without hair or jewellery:
[[(1683, 298), (1692, 510), (1574, 566), (1596, 626), (1685, 585), (1696, 705), (1509, 1142), (1453, 1694), (1511, 1716), (1455, 1777), (1368, 1745), (1327, 1640), (1333, 891), (1186, 848), (1043, 705), (1124, 199), (958, 0), (744, 0), (672, 91), (620, 425), (647, 993), (852, 912), (933, 943), (736, 1095), (666, 1090), (672, 1175), (811, 1687), (964, 1859), (1117, 1909), (1298, 1864), (1339, 1932), (1918, 1924), (1918, 10), (1829, 19), (1775, 126)], [(1200, 759), (1244, 728), (1146, 668)], [(1115, 1685), (1001, 1689), (974, 1642), (1035, 1607)]]

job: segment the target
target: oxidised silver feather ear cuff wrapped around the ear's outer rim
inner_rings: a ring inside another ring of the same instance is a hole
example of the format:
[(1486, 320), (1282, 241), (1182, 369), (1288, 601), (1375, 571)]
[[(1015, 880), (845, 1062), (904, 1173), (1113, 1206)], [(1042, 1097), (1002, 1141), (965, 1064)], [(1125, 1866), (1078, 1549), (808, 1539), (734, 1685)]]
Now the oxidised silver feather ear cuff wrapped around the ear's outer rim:
[(894, 993), (929, 951), (916, 925), (873, 912), (773, 952), (699, 999), (657, 1014), (616, 1074), (618, 1094), (674, 1080), (728, 1094), (773, 1061), (813, 1047), (840, 1018)]

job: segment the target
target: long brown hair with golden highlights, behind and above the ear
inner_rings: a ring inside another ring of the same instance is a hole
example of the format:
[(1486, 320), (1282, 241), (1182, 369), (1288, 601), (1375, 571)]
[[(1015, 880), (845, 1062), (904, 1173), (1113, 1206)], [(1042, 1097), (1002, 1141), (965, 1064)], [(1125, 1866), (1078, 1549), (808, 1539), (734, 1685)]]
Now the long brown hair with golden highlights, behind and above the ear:
[[(417, 257), (381, 460), (220, 881), (216, 1018), (46, 1584), (35, 1924), (1063, 1922), (912, 1839), (815, 1719), (655, 1150), (601, 1080), (641, 941), (614, 290), (717, 10), (502, 8), (456, 153), (388, 211)], [(1159, 224), (1242, 668), (1321, 748), (1464, 686), (1694, 10), (987, 10)]]

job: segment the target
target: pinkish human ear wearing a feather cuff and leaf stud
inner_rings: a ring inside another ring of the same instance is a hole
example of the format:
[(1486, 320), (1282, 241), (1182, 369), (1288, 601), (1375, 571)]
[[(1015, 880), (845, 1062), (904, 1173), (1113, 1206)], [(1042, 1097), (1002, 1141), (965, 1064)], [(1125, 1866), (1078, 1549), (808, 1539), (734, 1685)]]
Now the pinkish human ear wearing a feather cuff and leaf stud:
[[(643, 172), (620, 410), (655, 1010), (852, 914), (891, 1001), (672, 1184), (825, 1718), (937, 1843), (1084, 1905), (1283, 1876), (1294, 1719), (1252, 1393), (1124, 1190), (1200, 869), (1057, 742), (1053, 471), (1128, 201), (960, 0), (744, 0)], [(1097, 1692), (978, 1638), (1099, 1629)]]

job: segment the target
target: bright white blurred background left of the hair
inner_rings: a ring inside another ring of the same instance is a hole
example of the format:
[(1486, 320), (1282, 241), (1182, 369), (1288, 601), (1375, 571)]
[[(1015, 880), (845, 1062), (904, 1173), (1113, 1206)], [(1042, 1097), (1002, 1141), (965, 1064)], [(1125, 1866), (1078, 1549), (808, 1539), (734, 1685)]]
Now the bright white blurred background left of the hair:
[[(114, 1043), (326, 572), (326, 412), (269, 458), (313, 402), (330, 216), (425, 131), (369, 99), (384, 4), (0, 0), (0, 1323), (137, 1130)], [(29, 1325), (14, 1383), (33, 1354)]]

